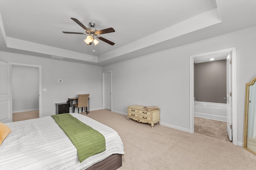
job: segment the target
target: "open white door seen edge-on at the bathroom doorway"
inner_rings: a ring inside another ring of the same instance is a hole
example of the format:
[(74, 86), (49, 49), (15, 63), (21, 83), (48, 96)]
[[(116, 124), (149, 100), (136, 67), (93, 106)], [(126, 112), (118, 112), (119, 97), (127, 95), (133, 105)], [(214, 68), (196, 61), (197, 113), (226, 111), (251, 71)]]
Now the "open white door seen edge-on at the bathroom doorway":
[(231, 94), (231, 53), (229, 53), (227, 57), (227, 94), (226, 94), (226, 100), (227, 100), (227, 131), (228, 131), (228, 137), (229, 140), (232, 141), (232, 94)]

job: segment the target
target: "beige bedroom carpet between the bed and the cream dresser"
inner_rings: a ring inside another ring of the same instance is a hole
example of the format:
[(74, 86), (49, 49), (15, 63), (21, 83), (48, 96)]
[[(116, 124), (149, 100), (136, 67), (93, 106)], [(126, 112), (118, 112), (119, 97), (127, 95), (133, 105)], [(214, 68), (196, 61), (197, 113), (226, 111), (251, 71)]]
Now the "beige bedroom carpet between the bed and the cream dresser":
[(118, 170), (256, 169), (256, 155), (228, 141), (158, 124), (151, 128), (148, 123), (128, 121), (127, 116), (106, 109), (90, 111), (86, 116), (120, 135), (125, 154)]

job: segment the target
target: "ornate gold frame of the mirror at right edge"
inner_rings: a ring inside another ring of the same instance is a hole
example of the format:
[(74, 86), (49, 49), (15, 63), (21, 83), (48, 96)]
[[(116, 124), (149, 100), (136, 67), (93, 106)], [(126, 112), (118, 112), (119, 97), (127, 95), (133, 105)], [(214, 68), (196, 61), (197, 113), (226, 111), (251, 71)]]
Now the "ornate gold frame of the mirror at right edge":
[[(244, 111), (244, 149), (249, 150), (253, 154), (256, 155), (256, 150), (252, 150), (247, 147), (248, 145), (248, 111), (249, 111), (249, 90), (250, 86), (254, 85), (256, 82), (256, 77), (250, 82), (246, 83), (246, 90), (245, 90), (245, 111)], [(256, 126), (256, 125), (255, 125)]]

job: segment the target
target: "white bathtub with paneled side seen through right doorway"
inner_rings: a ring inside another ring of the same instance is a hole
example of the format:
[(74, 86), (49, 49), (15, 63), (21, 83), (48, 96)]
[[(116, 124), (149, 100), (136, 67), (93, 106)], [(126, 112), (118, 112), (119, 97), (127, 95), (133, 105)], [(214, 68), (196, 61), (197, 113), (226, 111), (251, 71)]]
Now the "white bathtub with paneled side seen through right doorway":
[(194, 116), (227, 121), (227, 105), (212, 102), (194, 102)]

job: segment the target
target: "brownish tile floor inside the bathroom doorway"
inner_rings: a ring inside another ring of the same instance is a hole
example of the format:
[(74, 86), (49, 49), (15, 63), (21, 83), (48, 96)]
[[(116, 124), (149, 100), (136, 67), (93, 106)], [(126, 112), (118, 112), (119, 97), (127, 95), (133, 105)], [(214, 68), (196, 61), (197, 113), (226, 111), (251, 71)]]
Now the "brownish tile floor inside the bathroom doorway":
[(227, 123), (224, 121), (194, 117), (194, 133), (231, 142), (228, 138)]

